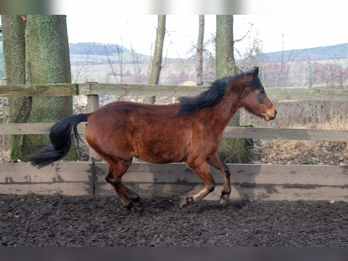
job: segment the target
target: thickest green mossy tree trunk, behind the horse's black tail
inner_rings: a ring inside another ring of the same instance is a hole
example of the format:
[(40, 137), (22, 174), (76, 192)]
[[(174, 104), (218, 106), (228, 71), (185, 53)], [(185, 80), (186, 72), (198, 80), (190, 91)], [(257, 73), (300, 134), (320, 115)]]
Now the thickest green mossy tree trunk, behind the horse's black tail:
[[(65, 15), (27, 15), (25, 78), (26, 84), (71, 83)], [(28, 122), (56, 122), (71, 114), (72, 96), (32, 97)], [(21, 160), (47, 144), (47, 135), (24, 135)], [(74, 142), (65, 159), (79, 159)]]

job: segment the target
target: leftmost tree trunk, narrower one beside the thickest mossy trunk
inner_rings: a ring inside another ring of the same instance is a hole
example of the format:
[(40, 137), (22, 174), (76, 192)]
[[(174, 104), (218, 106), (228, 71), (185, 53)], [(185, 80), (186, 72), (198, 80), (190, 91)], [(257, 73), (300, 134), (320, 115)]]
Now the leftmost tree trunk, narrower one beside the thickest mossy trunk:
[[(1, 15), (3, 49), (8, 85), (25, 84), (25, 20), (20, 15)], [(27, 123), (31, 110), (31, 97), (10, 97), (11, 123)], [(21, 157), (23, 135), (11, 135), (11, 162)]]

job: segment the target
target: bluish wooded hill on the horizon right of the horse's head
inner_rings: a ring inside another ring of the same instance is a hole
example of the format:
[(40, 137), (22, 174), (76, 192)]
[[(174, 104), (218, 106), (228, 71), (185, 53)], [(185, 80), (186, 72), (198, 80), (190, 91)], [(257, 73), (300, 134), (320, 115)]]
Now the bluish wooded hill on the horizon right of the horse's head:
[[(273, 52), (263, 54), (267, 62), (281, 62), (282, 52)], [(283, 54), (283, 61), (315, 61), (315, 60), (330, 60), (330, 59), (345, 59), (348, 58), (348, 43), (339, 45), (330, 45), (323, 47), (314, 47), (307, 49), (286, 50)]]

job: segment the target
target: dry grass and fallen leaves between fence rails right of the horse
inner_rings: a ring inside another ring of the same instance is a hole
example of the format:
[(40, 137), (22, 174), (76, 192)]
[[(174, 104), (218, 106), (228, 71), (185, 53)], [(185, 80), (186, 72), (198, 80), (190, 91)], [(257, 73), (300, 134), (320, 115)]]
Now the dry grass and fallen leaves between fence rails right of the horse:
[[(266, 128), (348, 130), (347, 102), (277, 101), (274, 121), (242, 111), (242, 124)], [(348, 165), (347, 142), (254, 140), (251, 163)]]

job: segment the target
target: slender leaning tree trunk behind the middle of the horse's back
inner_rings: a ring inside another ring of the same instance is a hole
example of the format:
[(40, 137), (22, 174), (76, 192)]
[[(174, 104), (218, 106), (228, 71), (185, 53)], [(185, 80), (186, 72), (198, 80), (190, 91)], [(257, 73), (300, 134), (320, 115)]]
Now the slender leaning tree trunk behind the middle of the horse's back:
[[(162, 69), (162, 52), (163, 52), (163, 41), (166, 32), (166, 16), (158, 15), (158, 26), (156, 33), (156, 44), (155, 51), (153, 53), (153, 60), (151, 66), (151, 73), (148, 84), (158, 84), (159, 74)], [(156, 96), (145, 96), (144, 103), (155, 103)]]

